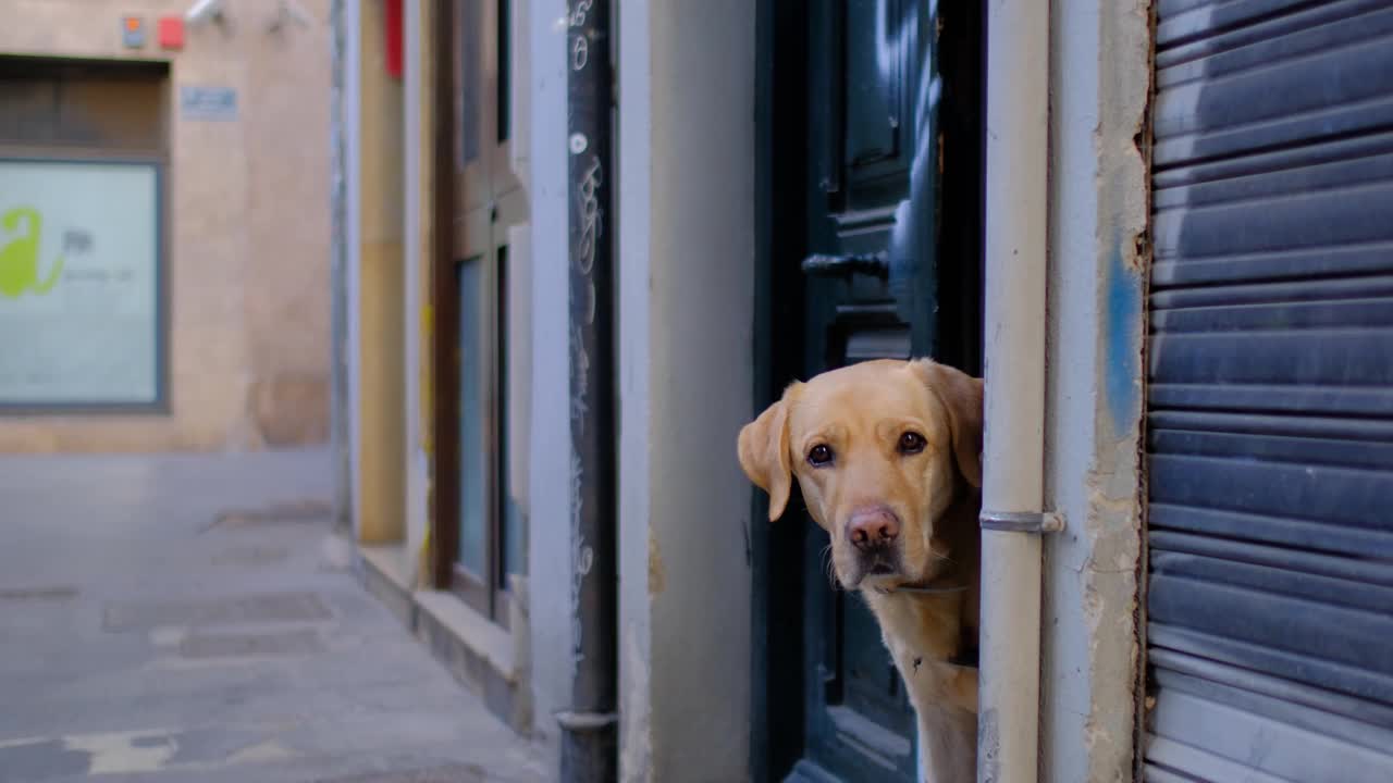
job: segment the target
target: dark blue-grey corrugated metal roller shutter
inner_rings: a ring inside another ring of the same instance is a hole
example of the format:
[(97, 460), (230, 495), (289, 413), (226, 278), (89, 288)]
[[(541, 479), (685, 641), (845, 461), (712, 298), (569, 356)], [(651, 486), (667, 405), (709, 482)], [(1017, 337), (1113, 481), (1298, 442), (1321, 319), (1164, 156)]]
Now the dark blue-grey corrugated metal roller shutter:
[(1158, 0), (1145, 777), (1393, 780), (1393, 3)]

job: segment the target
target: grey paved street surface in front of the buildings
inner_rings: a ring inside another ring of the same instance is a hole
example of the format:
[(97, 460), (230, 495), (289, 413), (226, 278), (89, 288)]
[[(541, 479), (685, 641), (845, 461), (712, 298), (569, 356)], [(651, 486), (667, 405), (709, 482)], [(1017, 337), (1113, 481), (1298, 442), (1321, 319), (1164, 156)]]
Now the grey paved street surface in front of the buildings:
[(532, 782), (352, 574), (327, 451), (0, 458), (0, 782)]

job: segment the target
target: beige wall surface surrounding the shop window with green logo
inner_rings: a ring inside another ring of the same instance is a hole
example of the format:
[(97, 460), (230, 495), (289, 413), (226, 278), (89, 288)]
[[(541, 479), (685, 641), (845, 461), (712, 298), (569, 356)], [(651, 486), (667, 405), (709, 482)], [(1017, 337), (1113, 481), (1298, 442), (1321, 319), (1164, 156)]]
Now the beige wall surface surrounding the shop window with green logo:
[[(0, 53), (170, 63), (169, 415), (0, 418), (0, 451), (258, 449), (329, 428), (329, 0), (269, 31), (276, 0), (226, 4), (162, 50), (189, 0), (8, 0)], [(121, 45), (124, 14), (146, 45)], [(234, 121), (180, 116), (182, 85), (237, 91)], [(0, 106), (3, 111), (3, 106)]]

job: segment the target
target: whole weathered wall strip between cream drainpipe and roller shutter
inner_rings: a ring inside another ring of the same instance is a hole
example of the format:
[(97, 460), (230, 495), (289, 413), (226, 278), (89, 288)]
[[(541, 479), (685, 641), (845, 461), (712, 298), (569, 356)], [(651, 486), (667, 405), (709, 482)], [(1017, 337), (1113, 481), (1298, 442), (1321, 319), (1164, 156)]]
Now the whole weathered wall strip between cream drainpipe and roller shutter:
[(1050, 8), (1041, 780), (1133, 779), (1148, 224), (1146, 0)]

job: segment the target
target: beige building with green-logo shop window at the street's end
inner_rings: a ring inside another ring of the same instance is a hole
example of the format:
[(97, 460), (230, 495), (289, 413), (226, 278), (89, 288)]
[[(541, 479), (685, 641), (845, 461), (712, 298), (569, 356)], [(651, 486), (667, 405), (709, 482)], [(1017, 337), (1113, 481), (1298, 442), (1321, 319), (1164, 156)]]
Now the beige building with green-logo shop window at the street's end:
[(15, 0), (0, 450), (329, 431), (329, 1)]

